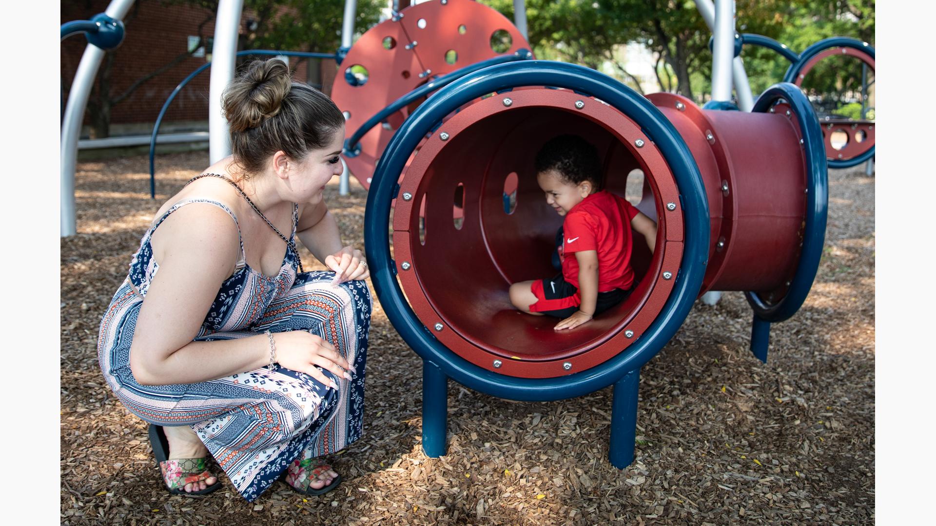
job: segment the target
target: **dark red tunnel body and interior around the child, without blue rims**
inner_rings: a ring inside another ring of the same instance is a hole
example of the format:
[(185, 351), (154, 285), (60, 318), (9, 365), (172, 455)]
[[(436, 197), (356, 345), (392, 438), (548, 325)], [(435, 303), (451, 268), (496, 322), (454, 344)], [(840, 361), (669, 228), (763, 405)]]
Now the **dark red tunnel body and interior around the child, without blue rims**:
[[(782, 295), (805, 206), (794, 123), (703, 111), (675, 95), (651, 100), (686, 140), (706, 184), (712, 236), (704, 288)], [(536, 183), (534, 156), (564, 133), (598, 148), (605, 187), (657, 220), (658, 237), (651, 255), (634, 233), (639, 284), (628, 300), (556, 332), (555, 318), (513, 309), (507, 289), (557, 273), (551, 253), (563, 218)], [(634, 170), (643, 174), (642, 192), (626, 196)], [(662, 154), (621, 111), (562, 89), (494, 94), (452, 116), (412, 158), (393, 213), (398, 278), (417, 316), (449, 349), (498, 373), (560, 376), (621, 353), (660, 313), (680, 269), (679, 190)]]

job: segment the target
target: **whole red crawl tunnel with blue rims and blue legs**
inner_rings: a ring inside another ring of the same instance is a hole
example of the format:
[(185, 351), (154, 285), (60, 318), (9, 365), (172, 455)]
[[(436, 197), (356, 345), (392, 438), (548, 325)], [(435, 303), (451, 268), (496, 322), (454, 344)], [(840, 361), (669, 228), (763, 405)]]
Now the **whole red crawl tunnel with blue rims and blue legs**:
[[(716, 21), (733, 15), (716, 7)], [(507, 288), (553, 272), (562, 219), (542, 198), (533, 158), (561, 133), (598, 147), (612, 192), (643, 172), (637, 208), (657, 221), (658, 239), (653, 254), (635, 246), (639, 285), (628, 300), (556, 333), (555, 320), (514, 310)], [(752, 350), (766, 360), (770, 325), (805, 300), (825, 239), (822, 131), (792, 83), (769, 88), (752, 112), (706, 110), (679, 95), (642, 97), (585, 67), (516, 61), (441, 88), (378, 154), (367, 256), (388, 318), (423, 358), (423, 449), (432, 457), (446, 451), (448, 378), (523, 401), (613, 384), (609, 459), (626, 466), (640, 368), (699, 294), (746, 291)]]

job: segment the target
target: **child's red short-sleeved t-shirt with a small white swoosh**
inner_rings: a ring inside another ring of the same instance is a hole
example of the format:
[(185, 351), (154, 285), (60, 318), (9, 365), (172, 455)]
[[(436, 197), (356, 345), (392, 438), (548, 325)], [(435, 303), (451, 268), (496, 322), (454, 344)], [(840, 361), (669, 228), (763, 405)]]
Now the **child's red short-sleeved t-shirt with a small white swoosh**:
[(595, 192), (572, 207), (563, 221), (563, 278), (578, 288), (576, 252), (598, 253), (598, 292), (627, 290), (634, 284), (631, 269), (631, 220), (639, 213), (623, 197)]

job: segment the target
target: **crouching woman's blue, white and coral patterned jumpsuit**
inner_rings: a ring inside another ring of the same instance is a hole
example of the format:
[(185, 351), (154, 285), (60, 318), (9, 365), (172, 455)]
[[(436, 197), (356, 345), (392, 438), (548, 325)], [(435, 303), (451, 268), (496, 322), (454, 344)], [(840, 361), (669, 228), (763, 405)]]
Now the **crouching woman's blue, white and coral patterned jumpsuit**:
[[(294, 462), (334, 453), (360, 437), (371, 295), (364, 281), (330, 285), (331, 271), (297, 273), (293, 243), (279, 273), (264, 276), (246, 264), (241, 240), (237, 268), (218, 291), (195, 340), (307, 330), (335, 346), (357, 370), (354, 379), (324, 371), (338, 384), (336, 392), (308, 374), (263, 367), (197, 384), (141, 386), (130, 371), (130, 344), (140, 305), (159, 270), (150, 240), (183, 206), (217, 206), (237, 224), (234, 212), (209, 199), (183, 200), (169, 208), (143, 236), (124, 284), (101, 319), (98, 361), (128, 410), (157, 425), (190, 426), (234, 487), (253, 501)], [(290, 241), (298, 221), (294, 205)]]

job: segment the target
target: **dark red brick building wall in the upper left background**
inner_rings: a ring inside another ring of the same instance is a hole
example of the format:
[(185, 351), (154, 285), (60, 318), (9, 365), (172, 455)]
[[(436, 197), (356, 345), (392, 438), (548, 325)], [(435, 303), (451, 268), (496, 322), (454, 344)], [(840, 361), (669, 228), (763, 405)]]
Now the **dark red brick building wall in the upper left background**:
[[(109, 4), (110, 0), (63, 0), (61, 3), (62, 22), (88, 20), (95, 14), (104, 12)], [(252, 13), (247, 10), (242, 14), (241, 34), (245, 33), (245, 21), (251, 15)], [(108, 52), (112, 56), (111, 96), (123, 94), (135, 81), (166, 66), (174, 58), (187, 51), (189, 37), (198, 35), (199, 24), (202, 24), (202, 37), (213, 37), (214, 14), (208, 9), (165, 5), (159, 0), (137, 0), (124, 19), (124, 42), (116, 50)], [(87, 40), (80, 35), (68, 37), (62, 42), (61, 75), (66, 97), (86, 46)], [(162, 74), (142, 83), (136, 91), (112, 107), (110, 135), (149, 133), (168, 95), (179, 82), (199, 66), (203, 66), (209, 58), (207, 54), (202, 57), (184, 58)], [(107, 66), (108, 60), (109, 57), (105, 56), (98, 70), (92, 98), (100, 88), (101, 72)], [(313, 65), (315, 63), (321, 65), (322, 91), (328, 94), (335, 77), (335, 63), (331, 60), (313, 61)], [(308, 79), (307, 64), (308, 61), (305, 59), (290, 59), (290, 67), (294, 70), (294, 77), (297, 80)], [(163, 131), (208, 129), (210, 77), (211, 73), (206, 69), (190, 81), (179, 95), (176, 95), (163, 119), (164, 124), (161, 128)], [(92, 135), (89, 114), (90, 111), (86, 110), (82, 137)]]

